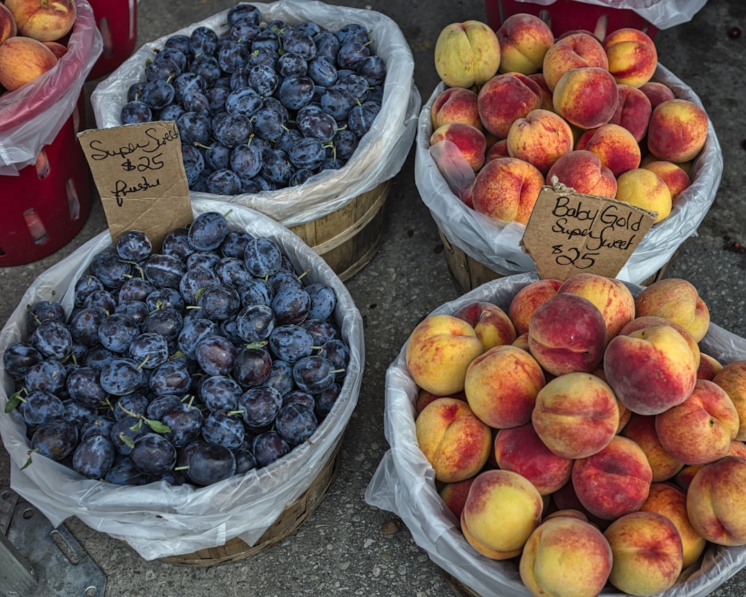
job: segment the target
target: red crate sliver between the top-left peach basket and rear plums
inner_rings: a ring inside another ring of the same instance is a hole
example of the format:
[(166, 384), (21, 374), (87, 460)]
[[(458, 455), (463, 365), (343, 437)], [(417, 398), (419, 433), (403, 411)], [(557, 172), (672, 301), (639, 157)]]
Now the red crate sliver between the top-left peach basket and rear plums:
[(137, 0), (88, 0), (104, 49), (87, 81), (108, 75), (130, 57), (137, 41)]

